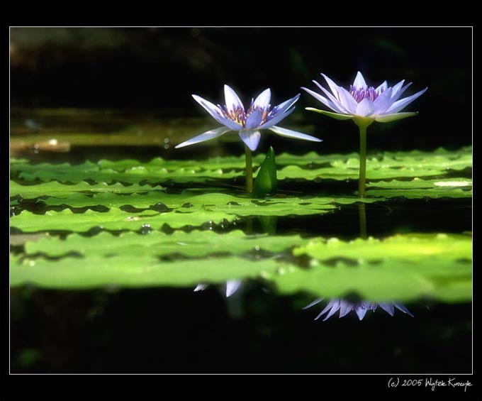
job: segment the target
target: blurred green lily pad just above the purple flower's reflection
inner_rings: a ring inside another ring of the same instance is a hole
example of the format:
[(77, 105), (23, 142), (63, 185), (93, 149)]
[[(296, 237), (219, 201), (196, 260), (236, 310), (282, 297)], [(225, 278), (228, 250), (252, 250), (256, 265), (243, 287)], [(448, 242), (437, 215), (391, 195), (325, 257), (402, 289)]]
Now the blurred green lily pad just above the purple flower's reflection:
[(420, 298), (443, 302), (471, 300), (472, 265), (467, 261), (423, 258), (415, 263), (386, 258), (380, 263), (313, 265), (309, 270), (286, 269), (273, 275), (283, 294), (308, 292), (314, 297), (358, 295), (371, 302), (409, 302)]

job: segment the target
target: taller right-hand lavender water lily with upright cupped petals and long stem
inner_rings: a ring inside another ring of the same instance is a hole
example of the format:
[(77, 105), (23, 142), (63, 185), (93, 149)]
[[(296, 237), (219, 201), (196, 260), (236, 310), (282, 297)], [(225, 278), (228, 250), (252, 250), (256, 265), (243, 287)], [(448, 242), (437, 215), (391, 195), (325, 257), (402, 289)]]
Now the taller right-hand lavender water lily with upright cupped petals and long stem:
[(349, 90), (339, 87), (325, 74), (321, 74), (330, 87), (330, 91), (325, 89), (321, 84), (313, 80), (326, 97), (317, 92), (313, 92), (308, 88), (301, 88), (308, 92), (315, 99), (323, 103), (332, 111), (313, 109), (307, 107), (306, 110), (315, 111), (325, 116), (332, 117), (337, 120), (352, 119), (359, 126), (360, 131), (360, 171), (359, 171), (359, 197), (365, 196), (365, 174), (366, 174), (366, 128), (378, 121), (379, 123), (388, 123), (405, 119), (407, 117), (416, 116), (417, 111), (408, 111), (400, 113), (400, 110), (408, 106), (412, 101), (424, 94), (428, 88), (422, 89), (409, 97), (400, 99), (405, 90), (410, 87), (412, 82), (403, 86), (405, 79), (402, 79), (393, 87), (388, 87), (385, 81), (378, 87), (369, 87), (361, 72), (357, 73)]

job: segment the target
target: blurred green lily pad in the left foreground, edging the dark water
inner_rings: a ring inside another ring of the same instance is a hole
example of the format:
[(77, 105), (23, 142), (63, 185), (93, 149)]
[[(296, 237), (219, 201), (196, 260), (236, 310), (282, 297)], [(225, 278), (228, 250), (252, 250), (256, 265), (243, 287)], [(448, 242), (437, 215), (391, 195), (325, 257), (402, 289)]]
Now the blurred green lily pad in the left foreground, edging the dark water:
[[(224, 268), (220, 268), (223, 263)], [(194, 287), (199, 282), (222, 283), (226, 280), (257, 278), (273, 272), (274, 260), (253, 261), (237, 257), (161, 262), (150, 256), (103, 258), (10, 257), (10, 286), (37, 285), (58, 290), (96, 287)]]

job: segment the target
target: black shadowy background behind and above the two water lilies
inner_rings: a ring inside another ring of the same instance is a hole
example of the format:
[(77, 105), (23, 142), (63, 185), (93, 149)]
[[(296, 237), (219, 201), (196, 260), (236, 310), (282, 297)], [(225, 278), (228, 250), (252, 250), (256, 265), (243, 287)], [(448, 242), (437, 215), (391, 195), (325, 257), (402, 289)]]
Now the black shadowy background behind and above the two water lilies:
[(191, 94), (221, 103), (230, 84), (247, 102), (270, 87), (274, 104), (302, 92), (284, 126), (351, 151), (357, 128), (304, 111), (325, 106), (300, 87), (320, 92), (320, 72), (348, 86), (360, 70), (374, 87), (413, 82), (404, 97), (429, 88), (404, 109), (419, 116), (370, 127), (370, 150), (457, 148), (471, 143), (471, 42), (471, 28), (11, 28), (11, 106), (206, 116)]

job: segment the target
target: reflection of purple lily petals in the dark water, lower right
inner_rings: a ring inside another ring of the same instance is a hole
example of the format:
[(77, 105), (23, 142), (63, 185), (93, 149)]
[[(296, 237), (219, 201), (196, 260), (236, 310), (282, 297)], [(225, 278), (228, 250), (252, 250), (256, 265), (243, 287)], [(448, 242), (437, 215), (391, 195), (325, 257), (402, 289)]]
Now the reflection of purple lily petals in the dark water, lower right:
[[(311, 302), (310, 304), (306, 305), (303, 309), (308, 309), (310, 307), (313, 307), (313, 305), (318, 304), (321, 302), (323, 298), (318, 298)], [(317, 317), (315, 317), (315, 320), (320, 319), (320, 317), (323, 316), (323, 314), (326, 314), (325, 319), (323, 319), (323, 322), (325, 320), (329, 319), (332, 317), (333, 314), (335, 314), (337, 311), (340, 311), (340, 317), (344, 317), (349, 312), (354, 311), (358, 319), (361, 320), (365, 317), (366, 312), (371, 310), (372, 312), (376, 311), (377, 307), (381, 307), (385, 312), (387, 312), (390, 316), (393, 316), (395, 313), (395, 308), (399, 309), (405, 314), (408, 314), (409, 316), (413, 317), (413, 314), (410, 313), (410, 311), (403, 306), (403, 304), (400, 304), (398, 302), (348, 302), (345, 300), (337, 299), (337, 300), (331, 300), (328, 302), (326, 305), (325, 309), (323, 309)]]

